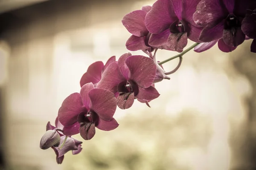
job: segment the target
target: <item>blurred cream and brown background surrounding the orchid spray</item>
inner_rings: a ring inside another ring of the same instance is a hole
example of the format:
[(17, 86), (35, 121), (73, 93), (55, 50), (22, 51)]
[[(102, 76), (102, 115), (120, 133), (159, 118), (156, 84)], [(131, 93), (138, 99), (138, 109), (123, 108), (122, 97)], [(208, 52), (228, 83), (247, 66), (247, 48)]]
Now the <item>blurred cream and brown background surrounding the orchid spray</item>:
[[(128, 52), (122, 17), (149, 0), (0, 0), (0, 169), (256, 170), (256, 54), (251, 40), (222, 53), (190, 51), (151, 108), (117, 109), (58, 165), (39, 142), (87, 67)], [(188, 45), (192, 45), (189, 42)], [(175, 55), (159, 50), (157, 59)], [(140, 51), (132, 54), (141, 54)], [(177, 60), (164, 64), (166, 71)]]

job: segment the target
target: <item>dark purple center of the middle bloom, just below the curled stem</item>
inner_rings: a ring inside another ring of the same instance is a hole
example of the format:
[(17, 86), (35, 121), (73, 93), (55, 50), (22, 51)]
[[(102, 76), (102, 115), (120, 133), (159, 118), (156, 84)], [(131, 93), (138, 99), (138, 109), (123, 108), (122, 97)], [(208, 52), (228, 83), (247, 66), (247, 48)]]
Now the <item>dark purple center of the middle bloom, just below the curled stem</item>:
[(134, 93), (134, 96), (136, 96), (139, 92), (138, 85), (132, 80), (120, 82), (117, 86), (117, 91), (119, 95), (124, 96), (124, 101), (128, 99), (130, 94)]

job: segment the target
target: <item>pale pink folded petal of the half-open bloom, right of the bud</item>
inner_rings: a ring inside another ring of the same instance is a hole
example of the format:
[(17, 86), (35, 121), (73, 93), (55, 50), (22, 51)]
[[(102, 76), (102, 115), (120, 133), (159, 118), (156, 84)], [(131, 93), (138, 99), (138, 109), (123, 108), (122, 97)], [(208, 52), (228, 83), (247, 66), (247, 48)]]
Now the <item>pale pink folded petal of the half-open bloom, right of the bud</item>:
[[(66, 136), (61, 136), (61, 143), (64, 142)], [(58, 158), (60, 158), (61, 156), (64, 156), (65, 153), (67, 153), (70, 150), (78, 150), (79, 149), (79, 145), (83, 142), (80, 142), (74, 138), (68, 137), (66, 142), (64, 143), (63, 147), (61, 149), (59, 149), (58, 147), (55, 147), (55, 153), (58, 153)], [(56, 155), (57, 155), (56, 153)]]

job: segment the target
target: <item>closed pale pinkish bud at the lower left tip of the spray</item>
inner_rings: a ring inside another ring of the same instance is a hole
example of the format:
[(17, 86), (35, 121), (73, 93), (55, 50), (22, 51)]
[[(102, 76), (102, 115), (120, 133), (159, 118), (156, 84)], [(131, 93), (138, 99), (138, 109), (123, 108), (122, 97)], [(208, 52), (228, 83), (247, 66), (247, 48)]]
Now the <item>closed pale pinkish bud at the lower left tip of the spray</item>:
[(52, 146), (57, 147), (60, 145), (60, 142), (61, 136), (56, 130), (47, 130), (46, 133), (44, 133), (44, 136), (41, 138), (40, 148), (45, 150)]

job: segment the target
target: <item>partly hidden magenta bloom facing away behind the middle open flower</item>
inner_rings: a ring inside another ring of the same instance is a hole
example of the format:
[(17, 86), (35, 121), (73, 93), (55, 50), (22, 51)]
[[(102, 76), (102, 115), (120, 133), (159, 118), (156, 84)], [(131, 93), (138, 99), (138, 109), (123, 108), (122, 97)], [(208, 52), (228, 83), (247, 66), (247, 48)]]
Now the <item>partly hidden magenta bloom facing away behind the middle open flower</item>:
[(105, 69), (110, 65), (111, 62), (116, 62), (116, 56), (112, 56), (108, 59), (106, 64), (104, 65), (102, 61), (97, 61), (91, 64), (86, 73), (81, 77), (80, 86), (82, 87), (88, 82), (92, 82), (93, 85), (96, 87), (97, 83), (101, 79), (102, 73)]

